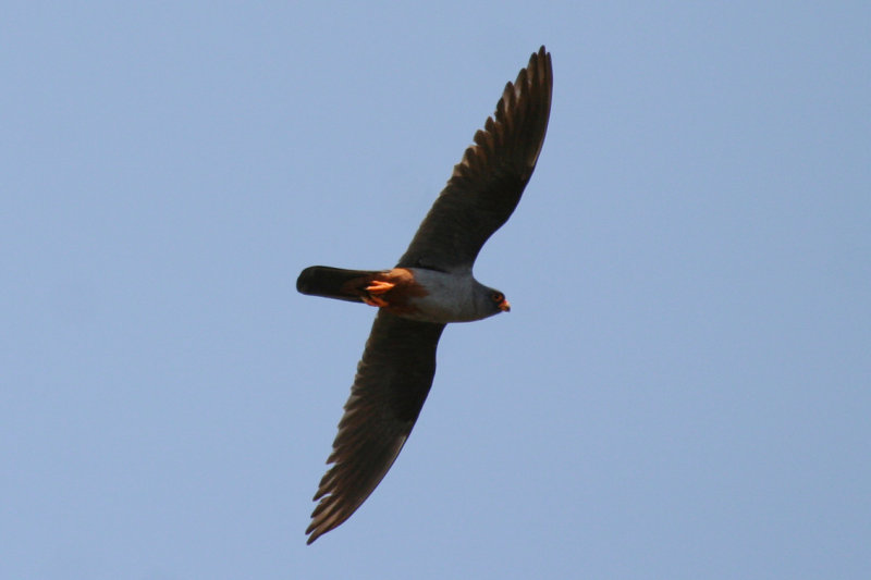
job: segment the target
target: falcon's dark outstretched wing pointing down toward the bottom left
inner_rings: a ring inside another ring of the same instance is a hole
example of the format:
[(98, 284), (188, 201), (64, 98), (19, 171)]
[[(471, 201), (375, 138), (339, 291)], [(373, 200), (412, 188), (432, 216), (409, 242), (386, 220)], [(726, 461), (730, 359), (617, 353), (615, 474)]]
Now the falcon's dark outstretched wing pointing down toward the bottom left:
[(307, 543), (349, 518), (393, 465), (432, 385), (442, 330), (379, 310), (327, 459), (333, 466), (315, 494)]

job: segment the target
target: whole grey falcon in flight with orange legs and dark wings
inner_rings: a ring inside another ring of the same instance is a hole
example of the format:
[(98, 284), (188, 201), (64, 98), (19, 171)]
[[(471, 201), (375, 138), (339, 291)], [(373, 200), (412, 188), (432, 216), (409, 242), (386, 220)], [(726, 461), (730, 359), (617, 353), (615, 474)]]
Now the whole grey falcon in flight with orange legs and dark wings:
[(445, 325), (511, 310), (502, 292), (475, 280), (473, 266), (536, 169), (552, 90), (551, 54), (542, 46), (505, 85), (394, 268), (312, 266), (299, 274), (302, 294), (378, 309), (314, 497), (307, 544), (346, 521), (390, 470), (432, 385)]

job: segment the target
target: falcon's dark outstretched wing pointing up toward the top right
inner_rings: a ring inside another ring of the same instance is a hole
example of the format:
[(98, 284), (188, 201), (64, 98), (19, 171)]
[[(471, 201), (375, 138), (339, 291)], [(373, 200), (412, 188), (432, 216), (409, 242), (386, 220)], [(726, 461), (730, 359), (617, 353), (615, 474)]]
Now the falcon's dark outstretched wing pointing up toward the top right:
[(544, 143), (551, 111), (551, 55), (541, 47), (505, 86), (495, 120), (487, 119), (454, 166), (396, 264), (436, 270), (470, 268), (484, 242), (511, 217)]

